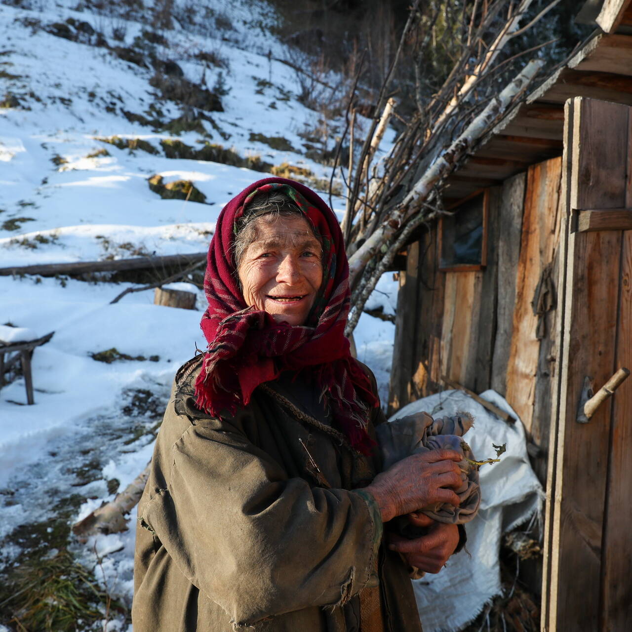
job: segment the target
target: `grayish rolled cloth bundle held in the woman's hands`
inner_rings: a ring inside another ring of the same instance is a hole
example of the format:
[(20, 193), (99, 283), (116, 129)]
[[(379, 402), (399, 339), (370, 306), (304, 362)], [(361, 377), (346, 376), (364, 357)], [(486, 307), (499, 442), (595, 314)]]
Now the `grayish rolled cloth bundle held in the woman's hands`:
[[(420, 507), (418, 511), (442, 523), (464, 525), (474, 518), (480, 505), (478, 468), (470, 461), (474, 456), (470, 446), (463, 441), (463, 435), (473, 426), (473, 418), (468, 413), (457, 413), (451, 417), (433, 419), (428, 413), (415, 413), (394, 422), (382, 423), (375, 430), (382, 454), (384, 470), (411, 454), (422, 454), (430, 450), (449, 449), (463, 454), (458, 463), (461, 469), (461, 487), (454, 490), (461, 499), (455, 507), (449, 502), (440, 502)], [(402, 535), (414, 536), (404, 524)]]

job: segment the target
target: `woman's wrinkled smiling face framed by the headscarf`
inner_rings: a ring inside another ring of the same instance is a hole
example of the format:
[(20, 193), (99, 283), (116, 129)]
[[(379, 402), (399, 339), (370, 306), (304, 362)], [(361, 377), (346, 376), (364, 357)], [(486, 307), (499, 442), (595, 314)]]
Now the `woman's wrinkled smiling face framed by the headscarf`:
[(322, 283), (322, 246), (303, 217), (263, 216), (238, 269), (246, 305), (303, 325)]

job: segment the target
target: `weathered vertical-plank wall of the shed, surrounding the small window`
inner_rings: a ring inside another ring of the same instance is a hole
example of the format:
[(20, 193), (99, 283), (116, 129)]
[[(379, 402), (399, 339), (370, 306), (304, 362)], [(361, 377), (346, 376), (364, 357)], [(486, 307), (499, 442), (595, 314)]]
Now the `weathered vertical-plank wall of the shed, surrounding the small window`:
[(443, 388), (493, 388), (525, 423), (545, 484), (555, 364), (561, 158), (490, 189), (487, 265), (438, 269), (437, 227), (408, 250), (400, 273), (389, 409)]

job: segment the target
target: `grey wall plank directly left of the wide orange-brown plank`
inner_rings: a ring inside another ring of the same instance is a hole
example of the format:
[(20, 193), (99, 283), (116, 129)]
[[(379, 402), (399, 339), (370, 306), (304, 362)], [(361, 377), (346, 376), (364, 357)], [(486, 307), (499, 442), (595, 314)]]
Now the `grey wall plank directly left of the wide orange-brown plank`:
[(516, 274), (520, 258), (522, 216), (525, 205), (526, 173), (519, 173), (502, 185), (498, 236), (498, 286), (496, 332), (492, 359), (492, 389), (504, 396), (507, 364), (511, 351), (513, 312), (516, 303)]

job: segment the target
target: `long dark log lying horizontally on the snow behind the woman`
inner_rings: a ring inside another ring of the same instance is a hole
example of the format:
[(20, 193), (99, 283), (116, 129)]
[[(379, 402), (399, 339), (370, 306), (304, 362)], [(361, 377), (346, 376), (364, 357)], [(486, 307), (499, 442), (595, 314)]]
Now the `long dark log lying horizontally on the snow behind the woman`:
[(57, 274), (83, 274), (85, 272), (118, 272), (120, 270), (162, 269), (170, 265), (191, 265), (202, 262), (207, 257), (205, 252), (194, 252), (188, 255), (163, 255), (162, 257), (134, 257), (112, 261), (76, 261), (63, 264), (14, 265), (0, 268), (0, 276), (11, 274), (38, 274), (39, 276), (56, 276)]

